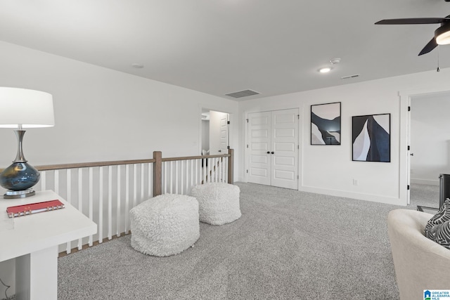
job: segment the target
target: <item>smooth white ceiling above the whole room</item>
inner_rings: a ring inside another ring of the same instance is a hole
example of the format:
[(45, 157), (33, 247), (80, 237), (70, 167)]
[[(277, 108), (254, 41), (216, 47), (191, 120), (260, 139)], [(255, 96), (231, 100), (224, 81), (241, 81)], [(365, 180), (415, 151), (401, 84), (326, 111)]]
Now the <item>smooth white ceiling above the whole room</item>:
[(450, 45), (418, 56), (439, 25), (373, 24), (449, 14), (444, 0), (0, 0), (0, 40), (223, 98), (260, 93), (245, 100), (435, 70), (438, 52), (449, 67)]

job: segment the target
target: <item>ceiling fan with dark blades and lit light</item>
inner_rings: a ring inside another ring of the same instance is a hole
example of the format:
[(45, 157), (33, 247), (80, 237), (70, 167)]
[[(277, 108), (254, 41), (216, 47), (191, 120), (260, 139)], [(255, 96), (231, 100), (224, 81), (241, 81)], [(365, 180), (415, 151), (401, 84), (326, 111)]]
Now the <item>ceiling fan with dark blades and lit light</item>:
[[(445, 0), (450, 2), (450, 0)], [(437, 45), (450, 44), (450, 15), (445, 18), (406, 18), (380, 20), (375, 25), (408, 25), (408, 24), (437, 24), (441, 26), (435, 30), (435, 37), (428, 42), (420, 51), (419, 56), (432, 51)]]

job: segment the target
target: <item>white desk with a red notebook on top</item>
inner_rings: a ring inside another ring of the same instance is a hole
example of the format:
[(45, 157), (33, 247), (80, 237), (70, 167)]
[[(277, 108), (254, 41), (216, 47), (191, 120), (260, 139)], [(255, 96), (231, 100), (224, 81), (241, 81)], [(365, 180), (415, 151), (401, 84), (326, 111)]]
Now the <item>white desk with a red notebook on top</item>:
[[(94, 235), (96, 223), (51, 190), (23, 199), (1, 199), (6, 207), (60, 200), (65, 208), (14, 218), (14, 228), (0, 228), (0, 261), (15, 258), (15, 299), (58, 299), (58, 245)], [(3, 216), (2, 216), (3, 217)]]

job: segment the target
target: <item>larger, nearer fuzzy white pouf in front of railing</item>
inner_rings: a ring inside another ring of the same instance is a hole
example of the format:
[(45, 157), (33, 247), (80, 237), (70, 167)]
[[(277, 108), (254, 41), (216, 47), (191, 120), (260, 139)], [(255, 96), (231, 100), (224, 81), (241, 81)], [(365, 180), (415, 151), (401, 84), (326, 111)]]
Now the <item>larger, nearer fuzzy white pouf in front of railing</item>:
[(165, 194), (130, 211), (131, 247), (155, 256), (178, 254), (200, 237), (198, 202), (194, 197)]

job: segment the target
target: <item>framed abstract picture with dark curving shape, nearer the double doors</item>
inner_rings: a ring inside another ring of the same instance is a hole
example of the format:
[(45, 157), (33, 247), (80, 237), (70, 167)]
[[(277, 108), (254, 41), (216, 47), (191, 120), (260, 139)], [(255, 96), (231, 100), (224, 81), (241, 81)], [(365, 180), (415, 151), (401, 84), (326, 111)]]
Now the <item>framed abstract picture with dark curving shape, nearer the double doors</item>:
[(340, 145), (340, 102), (311, 105), (311, 145)]

